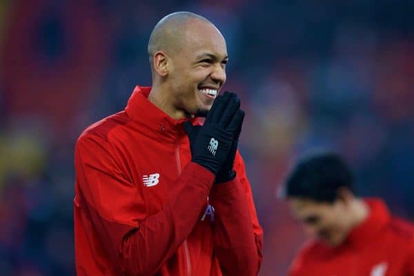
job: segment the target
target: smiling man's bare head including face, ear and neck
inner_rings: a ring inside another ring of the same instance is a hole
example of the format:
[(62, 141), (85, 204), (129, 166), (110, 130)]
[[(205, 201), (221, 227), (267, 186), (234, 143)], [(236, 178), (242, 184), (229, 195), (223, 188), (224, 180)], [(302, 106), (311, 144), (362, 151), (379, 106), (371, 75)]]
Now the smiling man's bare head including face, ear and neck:
[(149, 99), (175, 119), (205, 116), (226, 82), (226, 41), (208, 21), (173, 23), (150, 43), (155, 92)]

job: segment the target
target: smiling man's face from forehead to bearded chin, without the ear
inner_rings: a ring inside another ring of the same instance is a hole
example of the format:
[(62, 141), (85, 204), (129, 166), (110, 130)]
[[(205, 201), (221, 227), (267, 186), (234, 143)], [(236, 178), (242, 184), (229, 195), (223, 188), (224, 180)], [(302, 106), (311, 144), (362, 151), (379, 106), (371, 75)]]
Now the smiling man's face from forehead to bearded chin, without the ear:
[(175, 108), (206, 115), (226, 82), (226, 41), (211, 23), (192, 20), (171, 57), (168, 81)]

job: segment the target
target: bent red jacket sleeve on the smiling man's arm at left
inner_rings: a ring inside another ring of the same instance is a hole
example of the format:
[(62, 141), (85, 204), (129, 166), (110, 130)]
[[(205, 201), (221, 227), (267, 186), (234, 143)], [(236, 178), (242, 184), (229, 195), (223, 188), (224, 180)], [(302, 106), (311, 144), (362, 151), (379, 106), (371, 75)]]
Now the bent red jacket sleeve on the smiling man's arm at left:
[(146, 217), (140, 190), (111, 147), (95, 135), (77, 142), (76, 196), (90, 218), (84, 223), (92, 225), (106, 258), (123, 275), (153, 275), (190, 234), (214, 175), (190, 162), (162, 210)]

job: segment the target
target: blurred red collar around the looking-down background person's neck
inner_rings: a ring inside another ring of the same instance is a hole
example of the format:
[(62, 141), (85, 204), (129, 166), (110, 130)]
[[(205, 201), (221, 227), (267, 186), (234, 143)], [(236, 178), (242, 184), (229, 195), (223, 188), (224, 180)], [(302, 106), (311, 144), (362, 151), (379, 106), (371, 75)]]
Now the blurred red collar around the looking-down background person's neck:
[(368, 217), (349, 233), (346, 243), (363, 246), (366, 242), (377, 239), (384, 227), (391, 220), (391, 215), (382, 199), (368, 198), (365, 203), (369, 208)]

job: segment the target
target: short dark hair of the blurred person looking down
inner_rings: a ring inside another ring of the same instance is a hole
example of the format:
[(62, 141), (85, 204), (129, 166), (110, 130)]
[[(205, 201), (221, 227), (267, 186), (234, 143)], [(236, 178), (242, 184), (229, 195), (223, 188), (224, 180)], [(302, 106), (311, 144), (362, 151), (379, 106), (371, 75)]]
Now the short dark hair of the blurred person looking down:
[(339, 188), (355, 193), (351, 168), (334, 152), (306, 155), (290, 172), (285, 197), (300, 197), (333, 203)]

